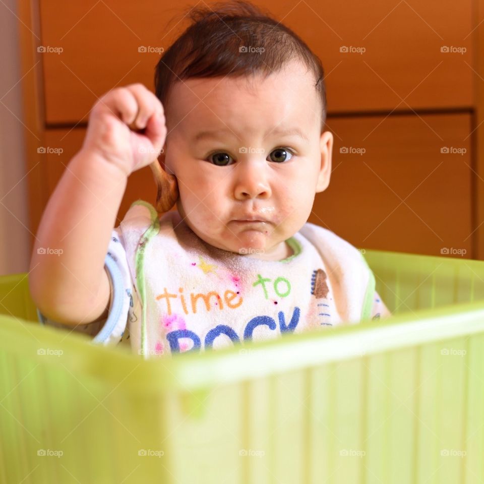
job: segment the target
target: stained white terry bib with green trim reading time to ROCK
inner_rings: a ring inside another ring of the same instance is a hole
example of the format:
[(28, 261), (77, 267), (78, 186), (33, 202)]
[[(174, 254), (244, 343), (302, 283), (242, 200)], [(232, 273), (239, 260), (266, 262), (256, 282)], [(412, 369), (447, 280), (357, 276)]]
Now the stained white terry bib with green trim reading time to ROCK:
[(138, 200), (121, 222), (134, 281), (131, 345), (148, 357), (203, 351), (371, 317), (375, 278), (361, 253), (306, 223), (294, 254), (261, 261), (207, 244), (176, 211)]

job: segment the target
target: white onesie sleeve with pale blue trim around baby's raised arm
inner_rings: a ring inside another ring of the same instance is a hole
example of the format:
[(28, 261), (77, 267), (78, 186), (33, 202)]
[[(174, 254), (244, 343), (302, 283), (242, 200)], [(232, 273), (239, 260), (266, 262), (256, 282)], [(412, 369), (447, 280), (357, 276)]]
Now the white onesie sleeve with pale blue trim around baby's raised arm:
[(79, 324), (71, 328), (46, 318), (37, 308), (40, 324), (86, 333), (94, 337), (93, 343), (103, 345), (115, 345), (124, 341), (123, 336), (125, 339), (129, 338), (126, 329), (130, 309), (133, 308), (133, 285), (126, 251), (121, 240), (120, 229), (113, 229), (104, 260), (104, 268), (108, 274), (111, 289), (107, 319)]

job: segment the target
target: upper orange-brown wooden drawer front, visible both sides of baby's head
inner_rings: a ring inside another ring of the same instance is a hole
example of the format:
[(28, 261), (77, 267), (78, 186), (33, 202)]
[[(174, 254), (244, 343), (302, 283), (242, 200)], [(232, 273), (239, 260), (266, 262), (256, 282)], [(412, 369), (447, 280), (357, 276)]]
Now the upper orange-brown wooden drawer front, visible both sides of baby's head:
[[(322, 59), (330, 112), (472, 103), (470, 0), (257, 4), (291, 27)], [(97, 97), (115, 86), (142, 82), (154, 90), (159, 54), (138, 48), (166, 49), (187, 26), (186, 20), (179, 21), (184, 8), (153, 0), (41, 0), (40, 43), (63, 49), (38, 54), (46, 122), (86, 121)], [(340, 52), (344, 46), (366, 51)], [(442, 46), (466, 52), (442, 53)]]

